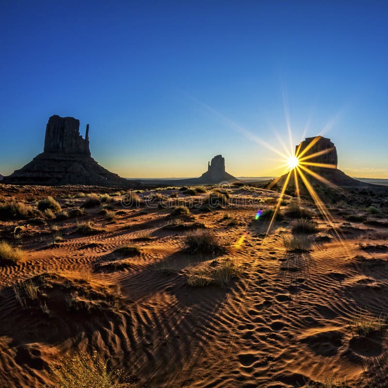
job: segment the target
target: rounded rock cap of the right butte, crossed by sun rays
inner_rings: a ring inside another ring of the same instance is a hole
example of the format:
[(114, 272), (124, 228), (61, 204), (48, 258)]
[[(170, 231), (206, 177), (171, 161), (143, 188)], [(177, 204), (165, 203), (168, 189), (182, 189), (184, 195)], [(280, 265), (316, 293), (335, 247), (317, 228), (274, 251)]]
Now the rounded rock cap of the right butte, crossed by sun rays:
[[(305, 153), (303, 153), (306, 147), (310, 144), (313, 144), (313, 146), (311, 146)], [(334, 165), (335, 168), (337, 168), (338, 165), (337, 148), (334, 146), (334, 143), (332, 143), (330, 139), (326, 137), (307, 137), (299, 144), (299, 146), (295, 147), (295, 154), (303, 154), (302, 158), (317, 154), (316, 156), (307, 159), (306, 162), (331, 164)]]

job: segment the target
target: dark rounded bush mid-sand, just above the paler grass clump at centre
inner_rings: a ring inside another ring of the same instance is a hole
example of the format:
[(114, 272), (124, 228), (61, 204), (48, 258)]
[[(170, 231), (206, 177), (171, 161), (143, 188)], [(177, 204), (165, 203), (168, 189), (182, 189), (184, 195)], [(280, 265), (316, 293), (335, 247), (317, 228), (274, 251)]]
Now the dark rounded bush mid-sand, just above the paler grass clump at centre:
[(184, 242), (190, 253), (223, 253), (230, 245), (229, 242), (222, 242), (212, 231), (206, 229), (196, 229), (189, 232), (185, 236)]

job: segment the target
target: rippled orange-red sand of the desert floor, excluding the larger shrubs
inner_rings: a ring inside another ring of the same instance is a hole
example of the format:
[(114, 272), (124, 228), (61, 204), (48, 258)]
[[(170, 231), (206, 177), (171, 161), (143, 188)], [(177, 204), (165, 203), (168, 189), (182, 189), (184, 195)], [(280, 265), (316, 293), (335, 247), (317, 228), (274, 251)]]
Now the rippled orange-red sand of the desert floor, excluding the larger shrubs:
[[(35, 211), (52, 195), (69, 212), (84, 203), (80, 191), (96, 189), (3, 185), (0, 202)], [(388, 387), (387, 207), (328, 205), (330, 225), (303, 202), (318, 230), (294, 233), (310, 245), (287, 251), (295, 217), (268, 236), (268, 219), (255, 220), (274, 207), (273, 191), (232, 188), (229, 205), (183, 215), (172, 215), (169, 201), (190, 206), (208, 194), (146, 191), (141, 206), (123, 206), (124, 193), (110, 193), (75, 217), (0, 220), (0, 240), (24, 250), (0, 265), (0, 387), (53, 384), (49, 364), (77, 351), (97, 351), (124, 371), (123, 387)], [(283, 213), (291, 201), (286, 195)], [(91, 230), (77, 229), (89, 221)], [(196, 228), (225, 251), (187, 251)], [(133, 251), (117, 251), (125, 245)], [(188, 284), (193, 269), (226, 258), (240, 268), (226, 285)], [(26, 296), (28, 284), (36, 297)], [(381, 325), (362, 336), (355, 319)]]

